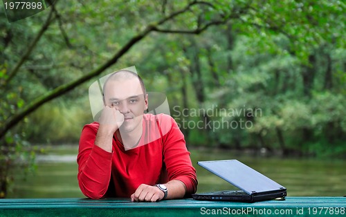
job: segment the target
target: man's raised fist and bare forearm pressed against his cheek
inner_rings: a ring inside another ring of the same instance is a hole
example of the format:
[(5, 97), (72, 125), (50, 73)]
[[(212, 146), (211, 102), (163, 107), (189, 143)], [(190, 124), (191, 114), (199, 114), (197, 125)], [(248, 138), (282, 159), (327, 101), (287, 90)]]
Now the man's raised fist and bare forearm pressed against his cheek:
[(104, 106), (98, 122), (100, 126), (98, 134), (96, 134), (95, 145), (104, 151), (111, 152), (113, 135), (124, 122), (124, 115), (115, 108)]

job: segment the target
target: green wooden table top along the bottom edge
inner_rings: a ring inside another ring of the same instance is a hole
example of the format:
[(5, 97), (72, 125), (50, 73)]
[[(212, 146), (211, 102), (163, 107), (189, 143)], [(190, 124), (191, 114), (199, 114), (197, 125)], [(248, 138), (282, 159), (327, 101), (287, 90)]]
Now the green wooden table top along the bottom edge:
[(131, 202), (90, 200), (0, 199), (0, 216), (346, 216), (346, 197), (287, 197), (263, 202), (213, 202), (192, 199)]

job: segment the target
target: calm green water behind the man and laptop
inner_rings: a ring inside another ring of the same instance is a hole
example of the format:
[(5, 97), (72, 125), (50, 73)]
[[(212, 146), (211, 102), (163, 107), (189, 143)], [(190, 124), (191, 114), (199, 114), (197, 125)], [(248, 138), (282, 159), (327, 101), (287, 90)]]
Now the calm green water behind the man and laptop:
[[(76, 149), (68, 153), (75, 153)], [(280, 183), (288, 196), (345, 196), (346, 161), (254, 157), (233, 151), (190, 150), (199, 180), (198, 192), (235, 189), (197, 165), (199, 160), (237, 159)], [(66, 153), (66, 151), (63, 153)], [(8, 198), (80, 198), (76, 162), (39, 163), (27, 180), (17, 180)]]

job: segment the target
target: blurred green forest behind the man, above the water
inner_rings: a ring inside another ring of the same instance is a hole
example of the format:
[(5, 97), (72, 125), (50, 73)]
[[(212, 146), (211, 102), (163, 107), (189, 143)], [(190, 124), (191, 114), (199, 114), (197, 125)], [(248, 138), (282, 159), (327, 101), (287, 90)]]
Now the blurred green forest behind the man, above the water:
[(346, 157), (343, 1), (54, 1), (0, 7), (0, 198), (42, 144), (78, 144), (89, 86), (136, 66), (189, 148)]

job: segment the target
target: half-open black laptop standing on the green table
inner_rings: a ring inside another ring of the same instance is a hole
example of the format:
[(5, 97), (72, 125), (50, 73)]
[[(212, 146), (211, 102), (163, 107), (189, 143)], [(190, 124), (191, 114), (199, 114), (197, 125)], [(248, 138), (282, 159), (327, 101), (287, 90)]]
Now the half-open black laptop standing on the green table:
[(238, 160), (200, 161), (197, 164), (240, 190), (192, 194), (192, 198), (195, 200), (256, 202), (272, 199), (284, 200), (287, 194), (285, 187)]

